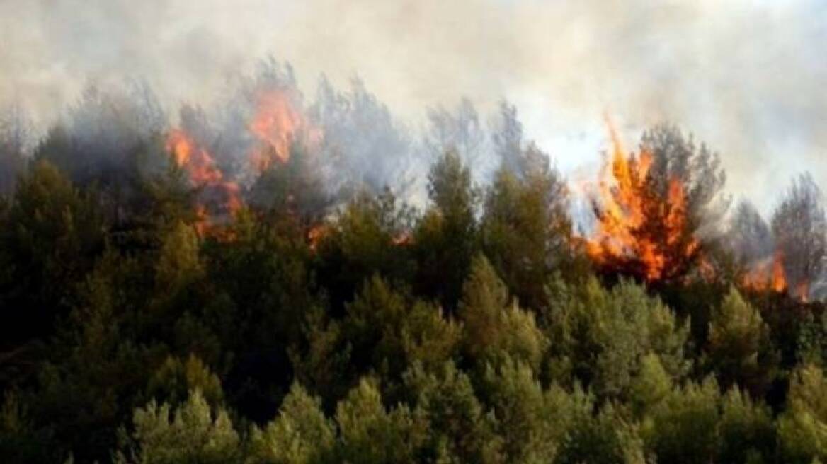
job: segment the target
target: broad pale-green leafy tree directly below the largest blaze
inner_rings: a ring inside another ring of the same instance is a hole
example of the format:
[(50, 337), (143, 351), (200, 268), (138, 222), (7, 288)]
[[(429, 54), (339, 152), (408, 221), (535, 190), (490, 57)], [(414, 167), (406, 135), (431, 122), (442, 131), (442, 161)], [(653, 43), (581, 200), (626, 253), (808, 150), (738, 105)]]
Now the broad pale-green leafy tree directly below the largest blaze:
[(687, 324), (642, 287), (621, 282), (607, 290), (590, 279), (549, 289), (552, 357), (600, 396), (625, 399), (648, 353), (672, 378), (686, 374)]

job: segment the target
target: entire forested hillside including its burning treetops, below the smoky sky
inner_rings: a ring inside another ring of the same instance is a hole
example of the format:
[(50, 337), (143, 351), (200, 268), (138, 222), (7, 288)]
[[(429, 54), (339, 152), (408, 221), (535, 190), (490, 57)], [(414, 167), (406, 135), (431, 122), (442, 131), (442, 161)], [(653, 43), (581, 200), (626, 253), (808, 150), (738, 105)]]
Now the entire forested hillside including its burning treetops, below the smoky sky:
[(234, 86), (7, 111), (0, 461), (827, 460), (809, 175), (767, 221), (691, 135), (612, 131), (583, 220), (507, 103), (414, 137), (358, 82)]

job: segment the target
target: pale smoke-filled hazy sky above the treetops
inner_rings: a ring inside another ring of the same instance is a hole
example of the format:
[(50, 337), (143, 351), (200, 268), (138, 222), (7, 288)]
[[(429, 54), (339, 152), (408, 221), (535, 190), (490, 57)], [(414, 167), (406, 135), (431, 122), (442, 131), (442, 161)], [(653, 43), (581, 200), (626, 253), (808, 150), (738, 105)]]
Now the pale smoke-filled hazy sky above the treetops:
[(208, 102), (267, 54), (308, 90), (358, 75), (411, 125), (507, 98), (572, 177), (593, 173), (607, 111), (630, 146), (657, 121), (691, 130), (764, 211), (802, 170), (827, 189), (820, 0), (0, 0), (0, 102), (41, 121), (90, 79)]

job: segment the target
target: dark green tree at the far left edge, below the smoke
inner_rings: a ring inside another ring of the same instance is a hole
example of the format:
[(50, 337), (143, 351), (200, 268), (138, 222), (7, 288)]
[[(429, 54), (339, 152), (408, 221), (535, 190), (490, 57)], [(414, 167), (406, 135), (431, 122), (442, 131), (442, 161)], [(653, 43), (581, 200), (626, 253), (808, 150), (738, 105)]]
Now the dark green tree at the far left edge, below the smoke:
[(50, 333), (103, 249), (103, 237), (94, 198), (55, 166), (36, 163), (19, 179), (0, 227), (3, 346)]

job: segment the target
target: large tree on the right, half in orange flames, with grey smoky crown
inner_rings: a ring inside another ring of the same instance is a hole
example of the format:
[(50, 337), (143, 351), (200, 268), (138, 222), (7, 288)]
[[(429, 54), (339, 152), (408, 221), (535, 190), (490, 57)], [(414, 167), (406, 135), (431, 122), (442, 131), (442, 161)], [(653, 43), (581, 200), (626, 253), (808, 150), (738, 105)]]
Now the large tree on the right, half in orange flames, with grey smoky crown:
[(702, 261), (706, 239), (729, 202), (717, 154), (671, 125), (643, 134), (627, 154), (610, 127), (612, 153), (592, 199), (597, 230), (586, 251), (601, 267), (647, 282), (671, 282)]

